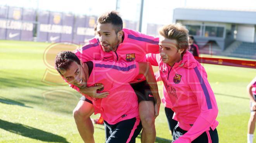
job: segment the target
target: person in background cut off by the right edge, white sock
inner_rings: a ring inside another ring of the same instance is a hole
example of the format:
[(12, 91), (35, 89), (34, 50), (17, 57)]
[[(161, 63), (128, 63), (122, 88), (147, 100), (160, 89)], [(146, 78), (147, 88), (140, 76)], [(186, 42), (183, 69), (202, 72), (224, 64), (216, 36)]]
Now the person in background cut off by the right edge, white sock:
[(253, 143), (253, 133), (256, 123), (256, 77), (248, 84), (247, 91), (249, 92), (251, 104), (251, 116), (248, 122), (247, 143)]

